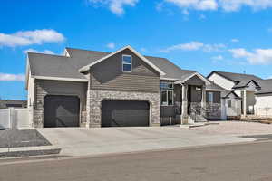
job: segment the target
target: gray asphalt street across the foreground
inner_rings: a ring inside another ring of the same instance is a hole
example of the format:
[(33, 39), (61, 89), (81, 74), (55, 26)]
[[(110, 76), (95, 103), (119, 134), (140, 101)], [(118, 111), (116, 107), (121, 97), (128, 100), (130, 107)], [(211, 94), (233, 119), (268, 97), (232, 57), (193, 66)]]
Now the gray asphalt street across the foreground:
[(0, 161), (0, 180), (270, 181), (272, 142), (100, 157)]

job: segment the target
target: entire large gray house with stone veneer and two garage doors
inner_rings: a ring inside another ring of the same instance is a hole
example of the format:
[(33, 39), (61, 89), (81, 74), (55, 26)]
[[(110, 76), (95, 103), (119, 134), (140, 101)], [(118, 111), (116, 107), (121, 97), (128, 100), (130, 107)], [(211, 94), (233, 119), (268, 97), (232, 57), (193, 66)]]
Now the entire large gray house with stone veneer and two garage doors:
[[(225, 90), (196, 71), (131, 46), (116, 52), (29, 52), (26, 90), (34, 127), (186, 124), (225, 119)], [(213, 111), (211, 111), (213, 110)]]

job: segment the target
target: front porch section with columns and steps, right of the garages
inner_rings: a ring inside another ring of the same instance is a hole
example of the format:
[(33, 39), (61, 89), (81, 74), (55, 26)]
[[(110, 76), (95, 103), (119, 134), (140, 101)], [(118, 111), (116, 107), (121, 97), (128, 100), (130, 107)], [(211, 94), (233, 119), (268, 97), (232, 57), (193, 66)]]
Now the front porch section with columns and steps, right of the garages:
[[(214, 102), (214, 100), (220, 102), (220, 94), (217, 98), (214, 92), (207, 90), (209, 81), (195, 75), (186, 81), (167, 83), (172, 83), (173, 86), (168, 90), (165, 90), (166, 86), (160, 88), (161, 125), (193, 124), (206, 122), (208, 119), (220, 119), (221, 105)], [(169, 92), (173, 94), (172, 98), (168, 98)]]

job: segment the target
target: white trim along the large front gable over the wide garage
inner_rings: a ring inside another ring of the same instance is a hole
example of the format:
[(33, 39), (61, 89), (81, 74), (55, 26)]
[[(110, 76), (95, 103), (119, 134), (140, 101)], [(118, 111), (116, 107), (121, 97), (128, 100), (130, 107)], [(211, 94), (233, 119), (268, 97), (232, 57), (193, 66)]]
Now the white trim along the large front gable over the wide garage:
[(165, 72), (161, 71), (156, 65), (154, 65), (152, 62), (150, 62), (147, 58), (145, 58), (144, 56), (141, 55), (141, 53), (135, 51), (130, 45), (125, 46), (123, 48), (121, 48), (120, 50), (116, 51), (116, 52), (112, 52), (110, 54), (108, 54), (107, 56), (102, 57), (101, 59), (92, 62), (86, 66), (83, 66), (83, 68), (81, 68), (79, 71), (80, 72), (84, 72), (84, 71), (88, 71), (90, 69), (90, 67), (92, 67), (93, 65), (95, 65), (96, 63), (102, 62), (106, 59), (108, 59), (109, 57), (111, 57), (114, 54), (117, 54), (118, 52), (121, 52), (125, 49), (129, 49), (131, 50), (131, 52), (133, 52), (134, 54), (136, 54), (139, 58), (141, 58), (142, 61), (146, 62), (148, 65), (150, 65), (154, 70), (158, 71), (160, 73), (160, 75), (165, 75)]

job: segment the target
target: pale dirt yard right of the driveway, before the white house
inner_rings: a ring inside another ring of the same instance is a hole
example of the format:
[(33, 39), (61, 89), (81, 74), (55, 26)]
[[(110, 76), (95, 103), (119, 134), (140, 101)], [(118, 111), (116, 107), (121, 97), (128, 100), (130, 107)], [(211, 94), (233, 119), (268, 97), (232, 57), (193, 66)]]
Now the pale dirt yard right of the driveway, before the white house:
[[(261, 135), (272, 134), (271, 124), (262, 124), (255, 122), (242, 121), (218, 121), (210, 122), (211, 125), (191, 128), (210, 134), (227, 134), (227, 135)], [(215, 124), (213, 124), (215, 123)]]

